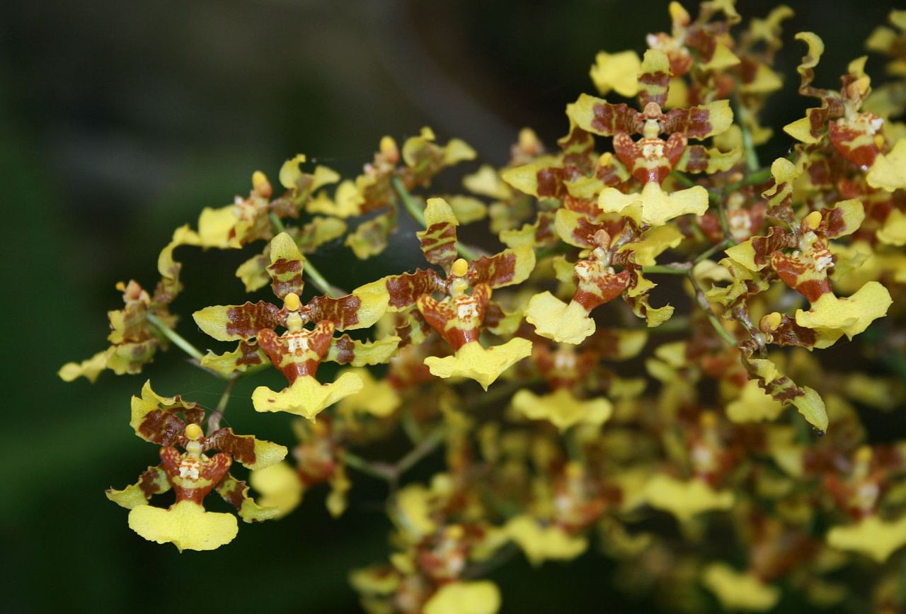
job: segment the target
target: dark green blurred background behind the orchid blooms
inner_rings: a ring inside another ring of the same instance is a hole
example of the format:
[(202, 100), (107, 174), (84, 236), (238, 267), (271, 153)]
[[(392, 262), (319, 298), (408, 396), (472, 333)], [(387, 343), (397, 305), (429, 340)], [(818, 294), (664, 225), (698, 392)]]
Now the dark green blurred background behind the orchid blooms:
[[(96, 385), (63, 384), (56, 370), (106, 346), (105, 312), (121, 305), (114, 283), (152, 286), (172, 229), (246, 194), (252, 171), (275, 178), (284, 159), (304, 152), (354, 176), (383, 134), (401, 142), (423, 125), (440, 141), (464, 139), (495, 164), (506, 162), (522, 126), (553, 144), (566, 132), (564, 105), (593, 93), (594, 54), (641, 51), (645, 34), (669, 29), (667, 4), (3, 0), (5, 611), (357, 611), (348, 571), (389, 551), (381, 483), (356, 474), (340, 520), (324, 511), (319, 489), (284, 521), (244, 525), (228, 547), (178, 555), (130, 531), (126, 512), (103, 490), (134, 482), (156, 463), (156, 448), (128, 424), (129, 397), (146, 377), (159, 392), (207, 405), (216, 404), (222, 383), (175, 352), (142, 375), (107, 372)], [(778, 72), (795, 77), (803, 47), (793, 34), (814, 30), (826, 46), (818, 84), (829, 87), (891, 8), (786, 4), (796, 16), (785, 25)], [(770, 6), (737, 3), (746, 16)], [(880, 62), (868, 70), (880, 75)], [(767, 125), (802, 116), (794, 77), (768, 106)], [(788, 146), (769, 143), (762, 160)], [(455, 188), (471, 168), (441, 177)], [(180, 258), (188, 291), (174, 309), (186, 317), (180, 331), (202, 348), (205, 336), (188, 314), (209, 296), (245, 299), (232, 271), (246, 252)], [(315, 261), (352, 287), (420, 258), (405, 239), (385, 254), (360, 266), (342, 246), (329, 246)], [(229, 424), (290, 443), (283, 416), (249, 411), (251, 386), (236, 389)], [(540, 569), (516, 560), (493, 578), (506, 612), (654, 609), (617, 592), (611, 571), (591, 553)]]

